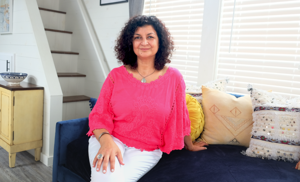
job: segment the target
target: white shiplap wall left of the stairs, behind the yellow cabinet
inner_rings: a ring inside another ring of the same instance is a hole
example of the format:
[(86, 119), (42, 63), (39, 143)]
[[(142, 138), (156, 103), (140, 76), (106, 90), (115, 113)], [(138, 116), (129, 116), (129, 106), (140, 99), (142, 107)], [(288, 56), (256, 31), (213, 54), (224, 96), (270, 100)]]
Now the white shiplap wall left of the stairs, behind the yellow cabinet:
[[(13, 34), (0, 35), (0, 50), (4, 53), (16, 53), (16, 72), (29, 75), (24, 82), (44, 87), (41, 161), (46, 165), (52, 165), (53, 147), (50, 146), (54, 143), (54, 133), (51, 132), (51, 128), (55, 128), (59, 117), (61, 120), (61, 111), (59, 113), (56, 109), (62, 107), (62, 92), (44, 26), (41, 17), (37, 15), (39, 10), (36, 0), (14, 0)], [(56, 112), (55, 115), (50, 114), (53, 112)]]

